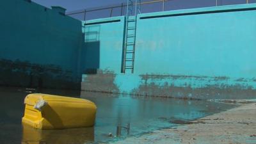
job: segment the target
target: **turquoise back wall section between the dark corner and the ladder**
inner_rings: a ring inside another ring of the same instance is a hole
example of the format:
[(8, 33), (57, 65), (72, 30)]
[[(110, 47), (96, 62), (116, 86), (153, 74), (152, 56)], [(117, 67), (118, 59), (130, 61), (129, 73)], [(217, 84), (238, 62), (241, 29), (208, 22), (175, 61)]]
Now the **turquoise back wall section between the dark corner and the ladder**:
[[(82, 90), (86, 88), (91, 91), (119, 92), (115, 79), (122, 67), (124, 20), (125, 17), (114, 17), (83, 22), (86, 45), (84, 51), (87, 52), (82, 52), (82, 55), (86, 54), (82, 59), (87, 63), (82, 67), (89, 72), (83, 75), (86, 81), (82, 84)], [(99, 22), (104, 24), (98, 24)], [(87, 25), (84, 26), (84, 23)], [(95, 52), (95, 49), (99, 51)]]

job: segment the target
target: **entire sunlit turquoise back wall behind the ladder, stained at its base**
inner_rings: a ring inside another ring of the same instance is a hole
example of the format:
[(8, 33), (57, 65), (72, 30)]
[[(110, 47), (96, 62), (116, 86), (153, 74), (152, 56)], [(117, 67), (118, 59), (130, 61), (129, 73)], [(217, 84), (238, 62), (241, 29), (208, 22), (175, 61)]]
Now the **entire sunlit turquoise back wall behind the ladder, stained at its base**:
[[(83, 74), (82, 90), (186, 99), (256, 97), (256, 4), (138, 15), (134, 74), (121, 73), (125, 17), (84, 23), (84, 41), (94, 39), (99, 49), (98, 57), (87, 61), (99, 63), (87, 65), (93, 72)], [(86, 49), (91, 48), (88, 42)]]

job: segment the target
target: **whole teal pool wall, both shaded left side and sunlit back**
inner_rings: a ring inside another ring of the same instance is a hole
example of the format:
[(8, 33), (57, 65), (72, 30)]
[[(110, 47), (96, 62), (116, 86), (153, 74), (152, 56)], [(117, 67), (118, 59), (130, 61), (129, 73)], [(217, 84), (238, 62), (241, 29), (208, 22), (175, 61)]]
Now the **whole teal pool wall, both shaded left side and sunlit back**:
[(81, 22), (25, 0), (3, 1), (0, 12), (3, 86), (184, 99), (256, 96), (256, 4), (138, 15), (134, 74), (121, 72), (124, 16)]

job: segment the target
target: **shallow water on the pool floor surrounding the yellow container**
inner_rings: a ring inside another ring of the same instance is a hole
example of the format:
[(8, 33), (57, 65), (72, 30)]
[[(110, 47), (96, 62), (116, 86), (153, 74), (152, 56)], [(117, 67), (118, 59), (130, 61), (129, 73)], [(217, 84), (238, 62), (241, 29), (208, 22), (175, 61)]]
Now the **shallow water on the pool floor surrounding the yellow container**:
[[(22, 125), (24, 97), (29, 93), (49, 93), (92, 100), (98, 108), (95, 126), (79, 129), (37, 130)], [(1, 87), (0, 95), (0, 141), (3, 144), (80, 144), (116, 141), (234, 108), (234, 104), (205, 100), (135, 97), (68, 90), (37, 91)], [(121, 128), (117, 129), (117, 127)]]

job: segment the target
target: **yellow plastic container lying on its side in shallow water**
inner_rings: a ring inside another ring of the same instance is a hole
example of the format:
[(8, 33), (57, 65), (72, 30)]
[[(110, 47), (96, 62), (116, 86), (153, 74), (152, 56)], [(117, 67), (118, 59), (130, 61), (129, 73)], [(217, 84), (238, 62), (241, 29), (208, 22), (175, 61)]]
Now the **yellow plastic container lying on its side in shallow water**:
[(33, 93), (24, 103), (22, 123), (36, 129), (90, 127), (95, 123), (97, 107), (90, 100)]

